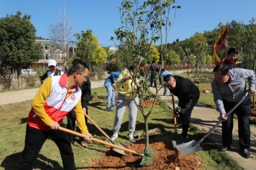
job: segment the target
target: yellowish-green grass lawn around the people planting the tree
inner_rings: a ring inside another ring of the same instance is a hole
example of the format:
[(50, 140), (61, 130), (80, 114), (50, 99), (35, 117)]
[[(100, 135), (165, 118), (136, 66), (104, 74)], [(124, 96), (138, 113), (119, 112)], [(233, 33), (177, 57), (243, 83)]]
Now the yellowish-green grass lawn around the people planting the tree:
[[(205, 84), (206, 86), (206, 84)], [(102, 128), (106, 134), (112, 135), (112, 128), (115, 119), (115, 112), (107, 112), (106, 109), (106, 89), (98, 88), (92, 89), (92, 92), (97, 92), (98, 100), (91, 102), (88, 112), (90, 118), (92, 118), (99, 127)], [(200, 98), (201, 101), (212, 100), (212, 96), (205, 94), (205, 98)], [(26, 118), (28, 112), (31, 109), (31, 101), (21, 102), (17, 104), (8, 104), (0, 106), (0, 169), (15, 169), (15, 166), (22, 157), (22, 150), (24, 147), (24, 135), (26, 130)], [(149, 109), (146, 109), (149, 110)], [(128, 111), (128, 109), (127, 109)], [(128, 114), (127, 111), (124, 114), (124, 120), (120, 129), (118, 142), (128, 144)], [(148, 128), (160, 128), (161, 134), (157, 139), (170, 142), (171, 138), (174, 138), (174, 125), (172, 120), (172, 110), (168, 108), (166, 104), (160, 102), (155, 106), (154, 112), (149, 116)], [(66, 123), (66, 118), (64, 120)], [(138, 118), (136, 122), (136, 130), (143, 130), (144, 121), (141, 112), (138, 111)], [(97, 139), (106, 140), (106, 137), (102, 135), (97, 128), (95, 128), (89, 121), (88, 129), (93, 137)], [(189, 134), (193, 136), (195, 141), (198, 141), (202, 137), (202, 133), (193, 125)], [(78, 140), (78, 137), (77, 137)], [(199, 155), (204, 160), (204, 169), (242, 169), (238, 166), (237, 162), (229, 157), (226, 153), (218, 152), (216, 146), (211, 143), (209, 139), (205, 139), (202, 144), (204, 148), (202, 151), (198, 151), (195, 154)], [(92, 158), (102, 158), (102, 152), (109, 150), (108, 147), (98, 144), (90, 143), (89, 148), (82, 148), (80, 144), (75, 143), (73, 146), (74, 156), (76, 160), (77, 169), (82, 169), (86, 162), (92, 161)], [(38, 158), (35, 162), (35, 169), (62, 169), (62, 162), (60, 153), (56, 144), (51, 139), (48, 139)]]

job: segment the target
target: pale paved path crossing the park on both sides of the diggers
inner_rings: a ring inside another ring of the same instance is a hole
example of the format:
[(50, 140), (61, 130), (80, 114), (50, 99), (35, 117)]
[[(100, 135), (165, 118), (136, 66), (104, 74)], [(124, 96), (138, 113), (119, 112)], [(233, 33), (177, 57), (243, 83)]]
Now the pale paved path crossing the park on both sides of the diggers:
[[(92, 82), (92, 88), (104, 87), (104, 81)], [(156, 93), (156, 89), (150, 89), (153, 93)], [(6, 93), (0, 93), (0, 105), (12, 104), (16, 102), (23, 102), (26, 100), (33, 100), (35, 97), (36, 89), (24, 89), (20, 91), (11, 91)], [(163, 89), (159, 90), (158, 95), (163, 95)], [(169, 95), (169, 92), (167, 93)], [(204, 95), (203, 93), (201, 95)], [(172, 97), (167, 96), (166, 98), (161, 98), (163, 102), (172, 108)], [(175, 104), (177, 106), (177, 97), (175, 97)], [(216, 125), (218, 122), (217, 117), (219, 113), (215, 109), (211, 109), (202, 104), (197, 104), (193, 109), (191, 115), (191, 123), (200, 129), (204, 134), (209, 132), (209, 130)], [(233, 144), (232, 149), (227, 151), (227, 153), (237, 160), (238, 164), (245, 170), (256, 169), (256, 128), (251, 127), (251, 148), (250, 158), (243, 158), (239, 155), (238, 146), (238, 132), (237, 132), (237, 120), (234, 119), (234, 131), (233, 131)], [(217, 145), (221, 144), (221, 128), (216, 128), (210, 135), (209, 138)]]

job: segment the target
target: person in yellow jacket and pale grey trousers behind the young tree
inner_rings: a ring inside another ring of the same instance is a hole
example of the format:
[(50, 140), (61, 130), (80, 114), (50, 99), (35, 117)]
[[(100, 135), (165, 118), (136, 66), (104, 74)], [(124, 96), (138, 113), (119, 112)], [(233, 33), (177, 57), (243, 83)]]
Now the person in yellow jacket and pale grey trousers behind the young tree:
[[(138, 79), (132, 80), (132, 72), (134, 70), (134, 66), (130, 66), (129, 69), (125, 68), (119, 75), (116, 86), (118, 86), (118, 95), (116, 98), (116, 116), (115, 123), (113, 127), (113, 135), (111, 139), (115, 141), (118, 137), (118, 131), (120, 130), (121, 123), (124, 117), (124, 112), (126, 109), (126, 105), (129, 108), (129, 140), (131, 143), (136, 143), (133, 133), (136, 127), (136, 118), (138, 107), (134, 104), (134, 100), (132, 97), (132, 88), (134, 88), (134, 97), (136, 102), (139, 102), (138, 98), (138, 88), (140, 88), (140, 83)], [(131, 85), (132, 84), (132, 85)]]

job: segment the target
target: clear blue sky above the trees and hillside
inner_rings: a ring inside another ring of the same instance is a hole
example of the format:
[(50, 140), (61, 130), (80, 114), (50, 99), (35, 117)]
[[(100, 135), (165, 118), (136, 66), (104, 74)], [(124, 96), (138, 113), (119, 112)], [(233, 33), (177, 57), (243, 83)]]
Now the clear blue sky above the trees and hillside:
[[(142, 0), (141, 0), (142, 1)], [(121, 0), (65, 0), (66, 14), (74, 19), (76, 33), (92, 29), (101, 45), (114, 46), (109, 39), (115, 36), (115, 29), (121, 26), (117, 7)], [(220, 22), (232, 20), (248, 23), (255, 17), (256, 0), (177, 0), (181, 6), (170, 30), (168, 42), (177, 38), (185, 40), (197, 31), (211, 31)], [(18, 10), (31, 15), (31, 22), (37, 29), (36, 36), (49, 37), (49, 24), (57, 22), (64, 0), (0, 0), (0, 17), (15, 14)]]

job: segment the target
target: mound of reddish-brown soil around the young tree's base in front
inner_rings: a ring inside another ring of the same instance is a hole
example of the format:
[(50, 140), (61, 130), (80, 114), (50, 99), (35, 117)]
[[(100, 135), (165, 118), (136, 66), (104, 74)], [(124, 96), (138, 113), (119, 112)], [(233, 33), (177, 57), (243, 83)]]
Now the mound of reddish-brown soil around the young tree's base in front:
[[(131, 150), (140, 151), (143, 153), (145, 144), (136, 143), (129, 144)], [(92, 160), (86, 162), (84, 169), (202, 169), (202, 159), (194, 154), (182, 157), (179, 152), (174, 151), (172, 146), (168, 143), (156, 142), (150, 144), (150, 148), (154, 148), (155, 156), (154, 162), (150, 166), (140, 166), (141, 156), (127, 155), (123, 156), (113, 150), (102, 153), (103, 160)], [(110, 148), (109, 148), (110, 149)]]

